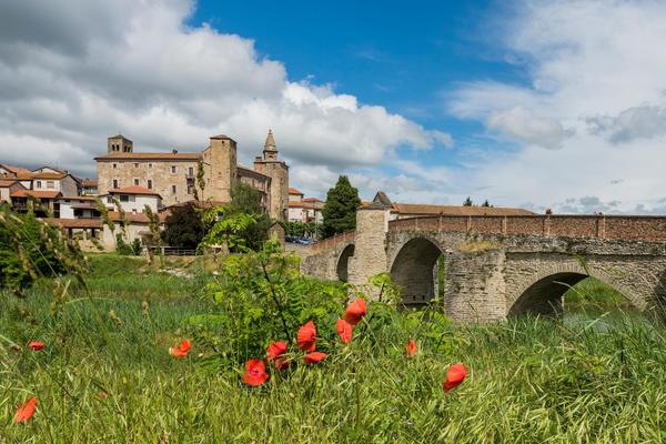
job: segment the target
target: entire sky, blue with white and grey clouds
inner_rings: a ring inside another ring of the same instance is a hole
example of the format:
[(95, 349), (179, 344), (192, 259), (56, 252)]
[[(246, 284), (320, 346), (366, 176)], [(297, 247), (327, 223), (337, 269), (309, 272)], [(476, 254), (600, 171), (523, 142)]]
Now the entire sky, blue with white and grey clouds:
[(666, 213), (666, 3), (0, 2), (0, 161), (138, 151), (249, 164), (272, 128), (324, 196)]

